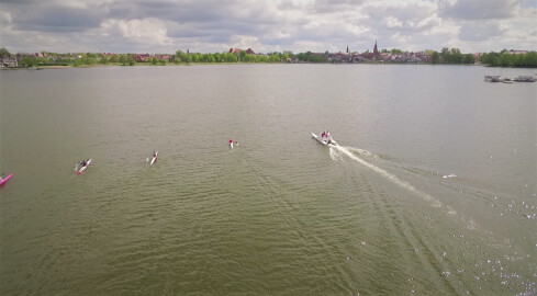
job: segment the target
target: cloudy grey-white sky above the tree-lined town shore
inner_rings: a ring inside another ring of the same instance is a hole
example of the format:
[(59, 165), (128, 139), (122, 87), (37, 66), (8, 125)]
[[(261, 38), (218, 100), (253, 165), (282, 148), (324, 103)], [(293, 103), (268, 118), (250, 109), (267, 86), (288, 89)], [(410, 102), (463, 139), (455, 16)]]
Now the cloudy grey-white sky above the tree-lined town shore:
[(537, 0), (0, 0), (11, 53), (537, 50)]

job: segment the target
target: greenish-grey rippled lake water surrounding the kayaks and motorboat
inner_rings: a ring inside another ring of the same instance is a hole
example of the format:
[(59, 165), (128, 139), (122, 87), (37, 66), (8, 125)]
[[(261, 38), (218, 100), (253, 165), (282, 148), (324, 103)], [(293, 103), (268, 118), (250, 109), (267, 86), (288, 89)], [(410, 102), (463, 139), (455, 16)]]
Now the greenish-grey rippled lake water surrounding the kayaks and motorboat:
[(0, 294), (535, 295), (535, 72), (0, 71)]

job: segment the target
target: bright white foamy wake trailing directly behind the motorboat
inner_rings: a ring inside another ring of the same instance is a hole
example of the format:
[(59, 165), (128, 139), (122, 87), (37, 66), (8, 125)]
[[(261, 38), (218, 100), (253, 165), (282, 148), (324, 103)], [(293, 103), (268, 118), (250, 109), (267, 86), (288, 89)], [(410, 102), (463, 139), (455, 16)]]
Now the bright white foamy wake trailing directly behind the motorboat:
[[(440, 201), (433, 197), (430, 194), (427, 194), (425, 192), (417, 190), (416, 187), (414, 187), (413, 185), (411, 185), (410, 183), (407, 183), (405, 181), (402, 181), (401, 179), (399, 179), (394, 174), (391, 174), (388, 171), (385, 171), (385, 170), (383, 170), (383, 169), (381, 169), (381, 168), (379, 168), (379, 167), (377, 167), (370, 162), (367, 162), (366, 160), (361, 159), (356, 153), (354, 153), (354, 152), (357, 152), (357, 153), (362, 155), (365, 157), (374, 157), (374, 155), (372, 155), (371, 152), (362, 150), (362, 149), (357, 149), (357, 148), (353, 148), (353, 147), (344, 147), (344, 146), (334, 146), (331, 148), (337, 149), (337, 151), (340, 152), (342, 155), (345, 155), (348, 158), (357, 161), (358, 163), (373, 170), (374, 172), (377, 172), (380, 175), (382, 175), (383, 178), (390, 180), (394, 184), (396, 184), (396, 185), (399, 185), (399, 186), (401, 186), (401, 187), (403, 187), (403, 189), (405, 189), (412, 193), (415, 193), (416, 195), (421, 196), (424, 201), (430, 203), (432, 206), (443, 207), (443, 204), (440, 203)], [(331, 149), (331, 158), (337, 159), (337, 157), (332, 156), (332, 149)], [(456, 212), (450, 206), (447, 206), (447, 208), (448, 208), (449, 214), (454, 214), (454, 215), (456, 214)]]

